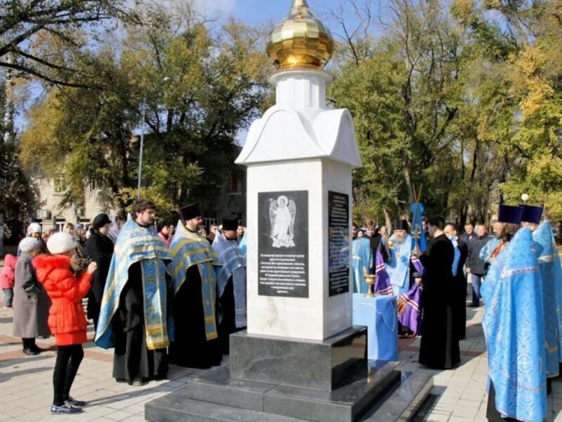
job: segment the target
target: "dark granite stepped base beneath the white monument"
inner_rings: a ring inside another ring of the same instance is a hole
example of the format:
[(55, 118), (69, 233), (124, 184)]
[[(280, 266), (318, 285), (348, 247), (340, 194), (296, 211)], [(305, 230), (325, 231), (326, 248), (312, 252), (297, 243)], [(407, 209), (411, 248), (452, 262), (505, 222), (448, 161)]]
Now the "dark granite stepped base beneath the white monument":
[(230, 365), (145, 404), (150, 422), (407, 421), (433, 373), (365, 359), (365, 328), (308, 342), (237, 333)]

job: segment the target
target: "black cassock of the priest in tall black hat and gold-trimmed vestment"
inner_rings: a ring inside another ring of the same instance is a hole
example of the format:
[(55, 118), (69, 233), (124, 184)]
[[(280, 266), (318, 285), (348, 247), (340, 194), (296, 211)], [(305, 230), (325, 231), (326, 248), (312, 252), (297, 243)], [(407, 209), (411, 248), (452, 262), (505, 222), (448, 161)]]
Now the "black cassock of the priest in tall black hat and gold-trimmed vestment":
[(199, 269), (192, 265), (174, 296), (172, 313), (176, 340), (171, 343), (169, 354), (172, 364), (208, 369), (221, 364), (222, 354), (218, 338), (207, 340), (205, 334), (201, 283)]

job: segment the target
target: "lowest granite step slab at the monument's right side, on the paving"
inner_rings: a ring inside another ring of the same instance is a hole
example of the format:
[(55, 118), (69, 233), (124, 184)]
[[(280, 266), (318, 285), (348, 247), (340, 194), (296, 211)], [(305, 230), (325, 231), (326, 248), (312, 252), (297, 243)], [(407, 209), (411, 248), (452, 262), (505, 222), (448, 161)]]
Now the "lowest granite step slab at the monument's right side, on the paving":
[(410, 421), (429, 396), (436, 371), (403, 373), (400, 384), (389, 391), (361, 422)]

